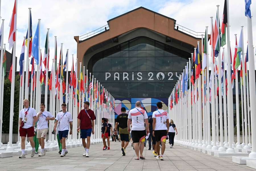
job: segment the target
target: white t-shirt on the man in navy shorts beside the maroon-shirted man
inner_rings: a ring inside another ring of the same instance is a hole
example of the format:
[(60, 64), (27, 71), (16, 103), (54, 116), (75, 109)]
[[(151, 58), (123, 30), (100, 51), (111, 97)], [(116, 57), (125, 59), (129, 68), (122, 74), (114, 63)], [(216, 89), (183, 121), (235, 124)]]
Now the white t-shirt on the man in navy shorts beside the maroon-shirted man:
[(69, 122), (73, 121), (71, 113), (67, 112), (64, 116), (63, 115), (63, 112), (59, 112), (55, 118), (58, 120), (57, 127), (59, 131), (69, 130)]

